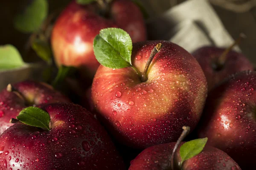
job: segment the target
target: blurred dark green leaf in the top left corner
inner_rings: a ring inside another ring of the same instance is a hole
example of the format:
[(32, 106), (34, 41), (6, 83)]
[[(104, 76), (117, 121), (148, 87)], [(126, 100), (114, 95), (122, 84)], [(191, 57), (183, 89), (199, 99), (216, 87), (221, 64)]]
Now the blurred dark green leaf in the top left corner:
[(33, 0), (25, 10), (17, 14), (14, 26), (23, 33), (37, 31), (48, 14), (47, 0)]

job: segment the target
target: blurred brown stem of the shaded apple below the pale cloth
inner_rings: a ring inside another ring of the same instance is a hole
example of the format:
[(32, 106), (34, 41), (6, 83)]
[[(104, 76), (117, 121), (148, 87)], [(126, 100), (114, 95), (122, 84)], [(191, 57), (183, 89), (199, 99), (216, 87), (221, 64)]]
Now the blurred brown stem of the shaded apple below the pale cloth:
[(215, 66), (214, 66), (214, 69), (216, 71), (219, 71), (223, 68), (225, 62), (226, 62), (226, 59), (227, 59), (227, 54), (233, 49), (233, 47), (235, 45), (239, 45), (241, 40), (246, 38), (246, 35), (243, 34), (243, 33), (240, 33), (239, 34), (239, 37), (236, 39), (236, 41), (230, 45), (222, 54), (221, 56), (217, 59), (217, 61), (215, 62)]

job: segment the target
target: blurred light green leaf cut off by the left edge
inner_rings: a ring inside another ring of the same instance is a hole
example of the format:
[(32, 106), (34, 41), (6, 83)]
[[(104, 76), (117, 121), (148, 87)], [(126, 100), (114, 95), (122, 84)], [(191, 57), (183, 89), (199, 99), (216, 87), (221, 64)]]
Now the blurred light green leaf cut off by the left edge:
[(15, 46), (10, 44), (0, 46), (0, 70), (19, 68), (24, 64)]

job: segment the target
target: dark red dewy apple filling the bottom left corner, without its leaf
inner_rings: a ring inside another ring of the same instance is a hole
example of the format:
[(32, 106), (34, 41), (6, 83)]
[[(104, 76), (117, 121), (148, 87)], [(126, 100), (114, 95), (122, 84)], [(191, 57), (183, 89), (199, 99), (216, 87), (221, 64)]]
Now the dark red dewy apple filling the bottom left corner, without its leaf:
[(91, 113), (71, 103), (42, 109), (51, 117), (49, 131), (17, 123), (0, 136), (0, 169), (124, 169), (110, 137)]

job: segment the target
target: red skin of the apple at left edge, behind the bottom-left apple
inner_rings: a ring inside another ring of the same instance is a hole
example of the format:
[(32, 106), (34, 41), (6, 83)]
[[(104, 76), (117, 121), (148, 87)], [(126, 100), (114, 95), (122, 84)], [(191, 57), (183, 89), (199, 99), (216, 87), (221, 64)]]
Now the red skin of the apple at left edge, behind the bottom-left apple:
[[(41, 107), (47, 103), (71, 102), (66, 96), (43, 82), (29, 80), (18, 82), (12, 87), (29, 101), (29, 105)], [(20, 111), (29, 105), (26, 105), (26, 102), (15, 92), (8, 92), (6, 89), (0, 92), (0, 135), (13, 125), (9, 122), (10, 119), (16, 118)]]

